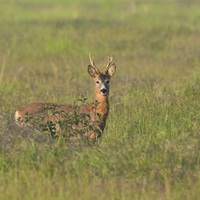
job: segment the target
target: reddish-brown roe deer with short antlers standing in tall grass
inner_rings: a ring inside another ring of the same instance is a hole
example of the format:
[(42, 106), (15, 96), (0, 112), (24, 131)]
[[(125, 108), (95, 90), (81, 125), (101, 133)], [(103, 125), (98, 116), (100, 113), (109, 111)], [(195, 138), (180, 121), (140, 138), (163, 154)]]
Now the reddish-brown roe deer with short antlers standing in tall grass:
[[(110, 79), (116, 72), (113, 57), (108, 57), (108, 63), (101, 72), (89, 55), (90, 64), (87, 67), (89, 75), (94, 80), (94, 101), (87, 105), (70, 105), (34, 102), (25, 105), (15, 111), (14, 119), (20, 127), (42, 126), (44, 129), (54, 127), (54, 134), (59, 134), (63, 129), (71, 127), (72, 130), (84, 130), (83, 135), (95, 142), (101, 137), (109, 114), (109, 85)], [(68, 120), (68, 118), (83, 118), (79, 120)], [(61, 126), (62, 124), (62, 126)], [(64, 124), (64, 126), (63, 126)], [(80, 129), (89, 126), (88, 129)], [(63, 128), (64, 127), (64, 128)], [(78, 138), (83, 136), (78, 133)]]

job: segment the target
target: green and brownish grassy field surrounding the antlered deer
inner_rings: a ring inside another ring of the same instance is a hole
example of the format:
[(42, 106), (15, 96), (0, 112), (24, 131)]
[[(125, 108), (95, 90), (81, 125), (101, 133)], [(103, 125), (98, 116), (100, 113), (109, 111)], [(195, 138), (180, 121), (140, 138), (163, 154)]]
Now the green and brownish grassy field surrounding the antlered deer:
[[(1, 0), (0, 199), (200, 199), (199, 6)], [(93, 101), (89, 54), (117, 66), (99, 141), (17, 127), (30, 102)]]

